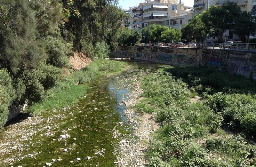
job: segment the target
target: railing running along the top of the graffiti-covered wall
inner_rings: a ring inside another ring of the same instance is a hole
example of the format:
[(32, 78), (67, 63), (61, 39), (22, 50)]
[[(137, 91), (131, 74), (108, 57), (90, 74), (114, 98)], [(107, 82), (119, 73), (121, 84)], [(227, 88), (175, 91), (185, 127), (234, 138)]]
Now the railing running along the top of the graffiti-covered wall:
[[(135, 46), (160, 46), (160, 47), (181, 47), (181, 48), (205, 48), (204, 43), (141, 43), (135, 44)], [(208, 43), (207, 48), (209, 49), (233, 49), (233, 50), (254, 50), (256, 51), (256, 44), (246, 44), (246, 43)]]

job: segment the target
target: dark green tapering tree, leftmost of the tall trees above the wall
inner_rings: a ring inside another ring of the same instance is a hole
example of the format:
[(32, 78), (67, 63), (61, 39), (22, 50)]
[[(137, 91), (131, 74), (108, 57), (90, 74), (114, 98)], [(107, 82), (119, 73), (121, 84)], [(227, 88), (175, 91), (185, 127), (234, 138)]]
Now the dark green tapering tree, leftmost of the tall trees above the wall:
[(189, 42), (193, 38), (196, 42), (203, 42), (206, 30), (202, 21), (202, 14), (198, 14), (192, 18), (191, 21), (184, 26), (181, 32), (183, 41)]

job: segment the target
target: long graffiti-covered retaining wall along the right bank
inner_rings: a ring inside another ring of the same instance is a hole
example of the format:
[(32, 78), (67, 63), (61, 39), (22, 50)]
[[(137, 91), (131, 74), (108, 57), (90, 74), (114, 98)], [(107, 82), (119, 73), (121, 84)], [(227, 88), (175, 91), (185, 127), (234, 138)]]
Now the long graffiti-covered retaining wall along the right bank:
[(230, 49), (171, 48), (147, 46), (118, 46), (112, 58), (132, 58), (170, 65), (216, 66), (228, 72), (256, 79), (256, 52)]

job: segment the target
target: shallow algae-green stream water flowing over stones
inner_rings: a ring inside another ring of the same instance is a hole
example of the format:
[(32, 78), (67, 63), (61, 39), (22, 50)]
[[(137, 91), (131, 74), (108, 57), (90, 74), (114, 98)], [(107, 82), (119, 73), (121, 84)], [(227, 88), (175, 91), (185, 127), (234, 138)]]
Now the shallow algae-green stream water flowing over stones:
[[(132, 125), (124, 115), (122, 101), (133, 90), (132, 78), (156, 71), (161, 66), (148, 62), (129, 62), (131, 68), (120, 75), (102, 76), (89, 83), (86, 97), (71, 106), (44, 113), (45, 118), (29, 145), (27, 154), (33, 154), (15, 163), (14, 167), (44, 166), (115, 166), (117, 143), (132, 136)], [(47, 128), (48, 126), (48, 128)], [(66, 135), (59, 139), (60, 135)], [(65, 150), (67, 149), (67, 150)], [(64, 150), (64, 151), (63, 151)], [(76, 158), (81, 160), (76, 161)], [(60, 161), (57, 161), (59, 159)]]

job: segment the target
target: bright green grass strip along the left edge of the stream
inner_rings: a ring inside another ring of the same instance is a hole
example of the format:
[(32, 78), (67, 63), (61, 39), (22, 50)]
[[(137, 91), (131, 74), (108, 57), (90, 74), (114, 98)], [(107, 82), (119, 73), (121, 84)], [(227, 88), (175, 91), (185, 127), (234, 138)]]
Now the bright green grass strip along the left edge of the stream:
[[(26, 111), (37, 115), (56, 107), (74, 104), (86, 94), (86, 91), (89, 91), (88, 85), (84, 83), (89, 83), (101, 75), (120, 73), (126, 68), (127, 65), (124, 62), (95, 60), (87, 67), (64, 76), (59, 83), (46, 91), (44, 101), (33, 104)], [(75, 85), (75, 83), (80, 84)]]

